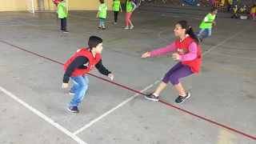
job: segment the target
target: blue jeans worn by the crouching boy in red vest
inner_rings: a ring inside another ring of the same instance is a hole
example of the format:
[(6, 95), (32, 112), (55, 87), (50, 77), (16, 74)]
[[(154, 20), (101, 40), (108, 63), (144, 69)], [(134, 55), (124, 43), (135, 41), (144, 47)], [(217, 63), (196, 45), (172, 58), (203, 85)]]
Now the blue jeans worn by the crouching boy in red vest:
[(86, 94), (86, 90), (88, 89), (89, 79), (87, 78), (86, 75), (84, 76), (79, 75), (79, 76), (70, 77), (70, 78), (74, 82), (74, 86), (71, 88), (71, 91), (74, 92), (74, 97), (70, 102), (70, 106), (78, 106), (78, 104), (82, 102), (82, 99)]

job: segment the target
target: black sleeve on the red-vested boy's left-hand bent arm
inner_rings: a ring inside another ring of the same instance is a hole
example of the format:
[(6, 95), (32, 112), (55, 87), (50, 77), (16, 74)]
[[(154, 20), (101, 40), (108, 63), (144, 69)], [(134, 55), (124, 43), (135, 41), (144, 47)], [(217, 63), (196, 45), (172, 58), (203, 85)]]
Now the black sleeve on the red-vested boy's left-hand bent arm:
[(84, 56), (79, 56), (75, 58), (74, 61), (70, 63), (70, 66), (66, 68), (66, 72), (63, 76), (63, 83), (68, 83), (70, 80), (70, 76), (74, 72), (74, 69), (78, 68), (79, 66), (82, 66), (84, 63), (88, 61), (89, 59)]

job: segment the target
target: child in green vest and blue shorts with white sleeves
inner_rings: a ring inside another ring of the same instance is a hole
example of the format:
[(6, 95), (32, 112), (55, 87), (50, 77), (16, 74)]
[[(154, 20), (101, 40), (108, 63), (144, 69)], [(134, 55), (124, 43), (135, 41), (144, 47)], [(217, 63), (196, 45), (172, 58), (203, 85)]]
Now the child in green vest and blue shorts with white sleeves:
[(101, 5), (98, 7), (98, 14), (96, 16), (96, 18), (99, 18), (99, 26), (98, 26), (98, 30), (106, 30), (105, 28), (105, 24), (104, 21), (106, 19), (106, 4), (104, 3), (104, 0), (99, 0), (99, 2), (101, 2)]

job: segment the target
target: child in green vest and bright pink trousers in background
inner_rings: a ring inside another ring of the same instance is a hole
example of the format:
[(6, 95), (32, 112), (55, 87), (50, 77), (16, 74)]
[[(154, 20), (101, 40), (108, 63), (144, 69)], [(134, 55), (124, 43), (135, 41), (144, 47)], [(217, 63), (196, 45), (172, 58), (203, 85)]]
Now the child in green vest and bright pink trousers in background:
[(129, 25), (130, 25), (130, 29), (134, 28), (134, 25), (130, 21), (130, 16), (131, 16), (131, 14), (133, 14), (133, 11), (136, 9), (136, 7), (137, 6), (134, 2), (132, 2), (131, 0), (127, 0), (127, 2), (126, 2), (126, 28), (125, 29), (129, 29)]

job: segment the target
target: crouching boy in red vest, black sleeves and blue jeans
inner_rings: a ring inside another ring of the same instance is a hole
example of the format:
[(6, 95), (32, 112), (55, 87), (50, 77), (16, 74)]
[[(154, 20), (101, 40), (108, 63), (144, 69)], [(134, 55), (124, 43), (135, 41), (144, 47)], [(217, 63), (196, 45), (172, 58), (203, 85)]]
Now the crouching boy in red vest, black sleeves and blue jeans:
[(62, 88), (68, 87), (70, 78), (74, 82), (74, 86), (70, 89), (70, 94), (74, 94), (74, 97), (68, 108), (73, 113), (79, 113), (78, 104), (82, 102), (88, 88), (89, 80), (86, 74), (94, 66), (101, 74), (109, 76), (111, 80), (114, 78), (114, 75), (102, 65), (102, 38), (91, 36), (88, 45), (89, 48), (77, 50), (77, 53), (64, 64)]

